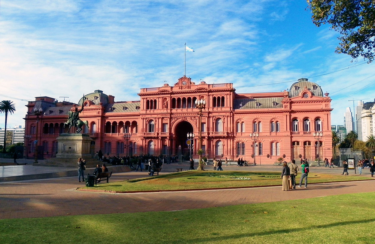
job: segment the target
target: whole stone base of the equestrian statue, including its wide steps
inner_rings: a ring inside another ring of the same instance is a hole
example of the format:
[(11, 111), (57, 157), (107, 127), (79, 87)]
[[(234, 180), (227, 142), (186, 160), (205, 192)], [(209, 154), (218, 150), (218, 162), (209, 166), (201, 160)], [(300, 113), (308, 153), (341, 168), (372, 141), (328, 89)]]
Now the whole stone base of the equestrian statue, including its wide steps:
[(60, 134), (57, 137), (57, 154), (55, 158), (39, 160), (35, 166), (77, 167), (78, 158), (86, 161), (86, 168), (96, 167), (101, 161), (93, 159), (90, 154), (92, 139), (88, 134)]

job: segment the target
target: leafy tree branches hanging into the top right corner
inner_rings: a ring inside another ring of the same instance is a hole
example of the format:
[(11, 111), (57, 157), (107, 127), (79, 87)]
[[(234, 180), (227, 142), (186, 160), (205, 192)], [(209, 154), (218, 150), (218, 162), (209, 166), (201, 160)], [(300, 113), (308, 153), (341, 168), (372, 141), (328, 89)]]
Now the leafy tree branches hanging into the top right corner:
[(330, 24), (339, 32), (336, 53), (348, 54), (353, 59), (362, 56), (368, 62), (375, 54), (374, 0), (307, 0), (316, 26)]

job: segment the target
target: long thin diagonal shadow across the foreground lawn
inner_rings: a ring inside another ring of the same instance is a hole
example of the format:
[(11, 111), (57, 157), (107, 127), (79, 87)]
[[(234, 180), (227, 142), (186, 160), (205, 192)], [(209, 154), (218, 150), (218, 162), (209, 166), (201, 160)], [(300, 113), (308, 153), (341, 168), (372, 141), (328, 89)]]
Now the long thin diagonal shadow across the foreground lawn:
[[(308, 231), (310, 232), (314, 228), (329, 228), (329, 227), (336, 227), (336, 226), (345, 226), (345, 225), (351, 225), (351, 224), (364, 224), (364, 223), (371, 223), (374, 222), (375, 218), (368, 219), (368, 220), (353, 220), (353, 221), (342, 221), (342, 222), (335, 222), (330, 224), (322, 224), (317, 226), (307, 226), (302, 227), (299, 229), (281, 229), (281, 230), (275, 230), (275, 231), (263, 231), (263, 232), (254, 232), (254, 233), (243, 233), (243, 234), (236, 234), (236, 235), (227, 235), (227, 236), (216, 236), (218, 233), (212, 232), (207, 233), (210, 236), (207, 236), (205, 238), (196, 238), (196, 239), (186, 239), (186, 242), (192, 242), (192, 243), (202, 243), (202, 242), (214, 242), (214, 241), (229, 241), (233, 239), (239, 239), (239, 238), (246, 238), (246, 237), (252, 237), (252, 236), (267, 236), (267, 235), (278, 235), (278, 234), (288, 234), (293, 232), (303, 232)], [(180, 241), (183, 242), (183, 241)], [(169, 244), (171, 243), (171, 240), (169, 241), (163, 241), (159, 243), (165, 243)]]

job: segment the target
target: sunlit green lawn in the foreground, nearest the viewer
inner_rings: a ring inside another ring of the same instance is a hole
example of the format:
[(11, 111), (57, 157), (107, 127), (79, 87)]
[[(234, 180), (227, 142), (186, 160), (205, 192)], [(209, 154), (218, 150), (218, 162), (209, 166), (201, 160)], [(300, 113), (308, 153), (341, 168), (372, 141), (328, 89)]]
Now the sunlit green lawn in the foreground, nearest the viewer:
[(0, 220), (1, 244), (373, 244), (375, 192), (174, 212)]

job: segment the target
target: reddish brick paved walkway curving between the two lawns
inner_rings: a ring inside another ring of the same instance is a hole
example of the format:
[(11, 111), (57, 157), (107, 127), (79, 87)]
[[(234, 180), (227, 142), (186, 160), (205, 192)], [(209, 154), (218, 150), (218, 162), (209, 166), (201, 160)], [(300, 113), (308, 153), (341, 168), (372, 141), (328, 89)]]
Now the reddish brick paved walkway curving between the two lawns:
[[(111, 182), (144, 176), (145, 172), (112, 175)], [(339, 182), (308, 185), (294, 191), (281, 187), (228, 190), (178, 191), (161, 193), (108, 194), (75, 191), (84, 183), (76, 177), (0, 184), (0, 219), (33, 218), (81, 214), (173, 211), (288, 199), (371, 192), (374, 181)]]

